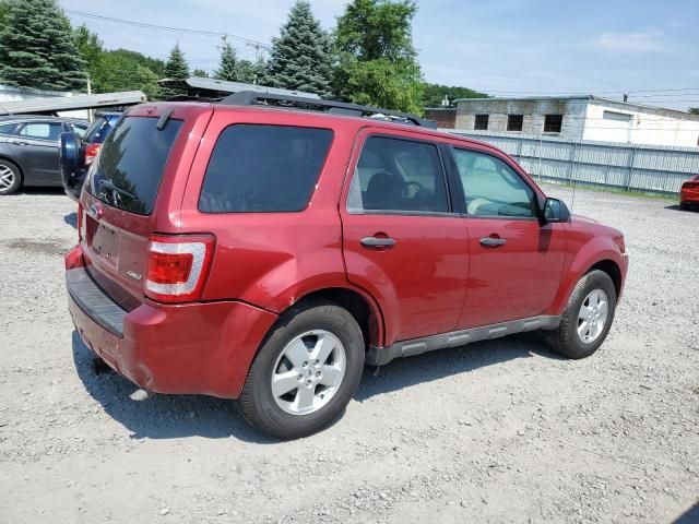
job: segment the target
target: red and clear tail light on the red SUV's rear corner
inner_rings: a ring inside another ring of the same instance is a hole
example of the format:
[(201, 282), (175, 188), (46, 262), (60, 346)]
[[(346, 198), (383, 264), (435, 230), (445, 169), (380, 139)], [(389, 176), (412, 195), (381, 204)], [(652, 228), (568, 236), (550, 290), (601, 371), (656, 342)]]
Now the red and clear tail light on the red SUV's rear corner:
[(161, 302), (201, 297), (213, 258), (211, 235), (153, 235), (149, 242), (145, 295)]

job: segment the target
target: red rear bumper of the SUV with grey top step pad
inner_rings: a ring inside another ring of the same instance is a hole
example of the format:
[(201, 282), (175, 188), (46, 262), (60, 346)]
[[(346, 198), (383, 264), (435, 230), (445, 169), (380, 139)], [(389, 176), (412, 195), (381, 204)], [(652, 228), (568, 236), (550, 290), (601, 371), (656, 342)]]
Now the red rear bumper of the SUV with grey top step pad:
[(277, 318), (236, 301), (144, 302), (125, 311), (84, 267), (67, 270), (66, 282), (68, 307), (87, 347), (140, 388), (158, 393), (238, 397)]

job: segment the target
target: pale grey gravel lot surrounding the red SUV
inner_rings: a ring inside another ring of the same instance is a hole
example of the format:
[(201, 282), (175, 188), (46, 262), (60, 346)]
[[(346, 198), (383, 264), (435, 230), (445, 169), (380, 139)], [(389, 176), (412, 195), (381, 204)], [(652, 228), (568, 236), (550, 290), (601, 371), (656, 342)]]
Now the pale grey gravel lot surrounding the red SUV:
[(137, 403), (92, 371), (63, 289), (73, 211), (0, 199), (0, 522), (699, 520), (699, 213), (578, 190), (631, 254), (600, 353), (526, 335), (367, 368), (337, 424), (277, 443), (230, 402)]

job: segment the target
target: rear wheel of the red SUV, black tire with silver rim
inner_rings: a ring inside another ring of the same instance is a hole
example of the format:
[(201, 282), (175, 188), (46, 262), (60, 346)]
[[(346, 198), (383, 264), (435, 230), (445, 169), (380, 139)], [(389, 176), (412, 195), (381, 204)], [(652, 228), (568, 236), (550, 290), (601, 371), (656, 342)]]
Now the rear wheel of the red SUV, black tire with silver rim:
[[(316, 355), (323, 361), (318, 364)], [(238, 398), (240, 413), (261, 432), (281, 440), (324, 429), (344, 412), (359, 384), (364, 355), (362, 330), (345, 309), (325, 300), (294, 306), (262, 343)], [(273, 392), (274, 377), (279, 386)]]

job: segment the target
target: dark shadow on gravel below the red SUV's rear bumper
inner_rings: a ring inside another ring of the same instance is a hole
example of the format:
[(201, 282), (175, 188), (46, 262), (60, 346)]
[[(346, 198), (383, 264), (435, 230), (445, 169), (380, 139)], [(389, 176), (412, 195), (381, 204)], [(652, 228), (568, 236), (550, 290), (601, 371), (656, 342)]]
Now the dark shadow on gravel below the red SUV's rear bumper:
[(95, 358), (75, 331), (72, 345), (78, 377), (87, 393), (102, 404), (111, 418), (132, 432), (132, 439), (198, 436), (209, 439), (234, 437), (261, 444), (276, 442), (250, 427), (229, 400), (204, 395), (153, 394), (146, 401), (132, 401), (129, 395), (137, 386), (106, 365), (104, 372), (96, 372)]

